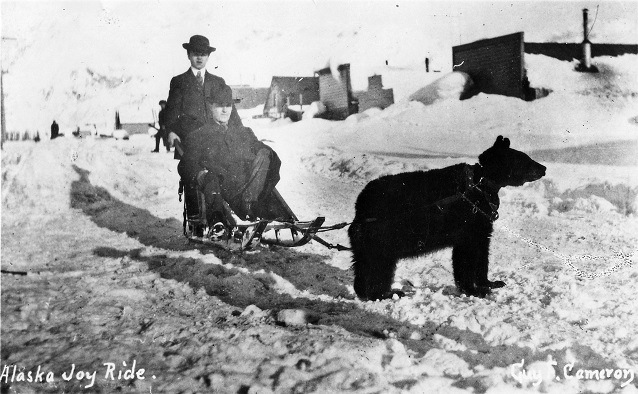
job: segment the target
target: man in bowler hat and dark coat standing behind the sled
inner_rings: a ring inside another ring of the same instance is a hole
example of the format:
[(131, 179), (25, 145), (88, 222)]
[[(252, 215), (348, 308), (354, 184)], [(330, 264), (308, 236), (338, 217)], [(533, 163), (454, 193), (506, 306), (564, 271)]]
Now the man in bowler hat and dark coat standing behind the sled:
[[(215, 48), (210, 46), (208, 38), (200, 35), (192, 36), (188, 43), (182, 44), (190, 61), (190, 68), (185, 73), (171, 79), (168, 101), (166, 103), (166, 128), (168, 130), (169, 146), (177, 140), (184, 140), (186, 135), (183, 128), (175, 127), (181, 117), (206, 123), (211, 114), (206, 110), (206, 98), (213, 97), (226, 86), (226, 82), (208, 71), (206, 63)], [(233, 105), (231, 125), (242, 125), (237, 109)], [(175, 153), (175, 158), (179, 158)]]

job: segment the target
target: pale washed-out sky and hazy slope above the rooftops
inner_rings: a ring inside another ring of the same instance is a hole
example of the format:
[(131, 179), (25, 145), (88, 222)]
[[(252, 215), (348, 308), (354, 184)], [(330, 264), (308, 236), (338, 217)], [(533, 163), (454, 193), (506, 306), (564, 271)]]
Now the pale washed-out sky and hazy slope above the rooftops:
[(2, 34), (18, 38), (3, 41), (8, 56), (38, 48), (43, 61), (150, 67), (161, 78), (188, 66), (181, 44), (203, 34), (218, 48), (210, 65), (229, 83), (267, 85), (330, 58), (447, 60), (441, 51), (452, 45), (518, 31), (527, 42), (580, 42), (583, 8), (592, 41), (638, 43), (637, 1), (3, 1)]

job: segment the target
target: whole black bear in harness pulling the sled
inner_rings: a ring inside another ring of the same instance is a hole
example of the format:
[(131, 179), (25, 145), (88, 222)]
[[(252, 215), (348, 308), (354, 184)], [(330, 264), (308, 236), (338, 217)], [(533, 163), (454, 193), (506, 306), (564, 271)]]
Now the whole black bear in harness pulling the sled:
[(399, 259), (450, 246), (461, 292), (485, 297), (492, 288), (505, 286), (487, 279), (498, 191), (536, 181), (545, 170), (499, 136), (478, 164), (387, 175), (368, 183), (348, 230), (357, 296), (392, 297)]

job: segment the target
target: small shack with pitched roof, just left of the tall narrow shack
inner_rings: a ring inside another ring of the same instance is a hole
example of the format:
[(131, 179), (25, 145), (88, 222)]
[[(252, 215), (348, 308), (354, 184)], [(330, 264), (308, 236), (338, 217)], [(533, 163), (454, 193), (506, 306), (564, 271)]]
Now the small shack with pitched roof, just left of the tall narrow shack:
[(283, 118), (290, 106), (310, 105), (319, 101), (319, 78), (273, 77), (264, 105), (264, 116)]

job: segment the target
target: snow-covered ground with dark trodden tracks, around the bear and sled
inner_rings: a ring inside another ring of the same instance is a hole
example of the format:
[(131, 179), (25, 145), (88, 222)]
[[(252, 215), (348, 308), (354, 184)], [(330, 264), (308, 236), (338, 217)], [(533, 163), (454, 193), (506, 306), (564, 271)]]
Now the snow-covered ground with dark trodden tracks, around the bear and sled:
[[(282, 158), (292, 209), (328, 224), (353, 218), (367, 181), (474, 163), (498, 135), (543, 162), (546, 177), (500, 193), (490, 276), (507, 286), (486, 299), (458, 294), (449, 250), (400, 263), (413, 295), (361, 302), (348, 252), (189, 245), (177, 162), (148, 136), (6, 143), (3, 390), (638, 392), (637, 59), (578, 74), (526, 57), (532, 86), (553, 91), (535, 102), (402, 101), (343, 122), (243, 114)], [(348, 244), (345, 229), (325, 238)], [(51, 382), (16, 379), (39, 367)]]

